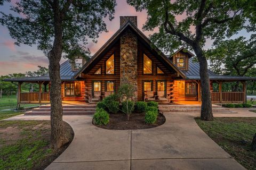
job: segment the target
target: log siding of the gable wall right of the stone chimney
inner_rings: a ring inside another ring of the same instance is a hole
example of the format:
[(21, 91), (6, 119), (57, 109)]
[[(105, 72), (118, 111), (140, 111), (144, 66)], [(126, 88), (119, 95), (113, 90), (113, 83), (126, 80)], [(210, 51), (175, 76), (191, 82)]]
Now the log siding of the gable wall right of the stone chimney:
[[(145, 53), (152, 61), (153, 74), (143, 74), (143, 53)], [(157, 66), (165, 74), (157, 74)], [(158, 60), (157, 56), (152, 55), (149, 50), (138, 41), (138, 69), (137, 69), (137, 81), (138, 81), (138, 100), (143, 100), (143, 80), (153, 80), (153, 91), (156, 92), (156, 81), (166, 80), (166, 94), (172, 92), (172, 72)]]

